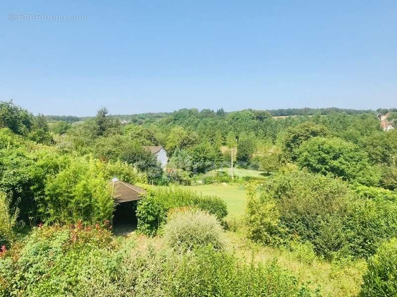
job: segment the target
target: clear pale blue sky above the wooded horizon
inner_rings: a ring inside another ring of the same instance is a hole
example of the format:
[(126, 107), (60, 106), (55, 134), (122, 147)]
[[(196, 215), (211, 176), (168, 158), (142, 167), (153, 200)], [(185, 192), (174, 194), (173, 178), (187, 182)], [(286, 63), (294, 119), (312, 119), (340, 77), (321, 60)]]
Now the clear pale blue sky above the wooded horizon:
[(9, 99), (78, 116), (397, 107), (397, 1), (4, 0)]

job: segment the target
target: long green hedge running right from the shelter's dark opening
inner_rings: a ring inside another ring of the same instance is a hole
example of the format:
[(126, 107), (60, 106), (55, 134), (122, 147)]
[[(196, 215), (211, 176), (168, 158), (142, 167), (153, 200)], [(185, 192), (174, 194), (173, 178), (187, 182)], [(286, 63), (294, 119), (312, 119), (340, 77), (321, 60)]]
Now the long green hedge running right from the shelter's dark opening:
[(155, 235), (159, 227), (166, 222), (168, 211), (182, 206), (197, 207), (215, 215), (218, 220), (222, 220), (227, 215), (226, 203), (220, 198), (201, 197), (195, 192), (181, 189), (157, 189), (149, 191), (146, 198), (138, 202), (137, 230), (149, 236)]

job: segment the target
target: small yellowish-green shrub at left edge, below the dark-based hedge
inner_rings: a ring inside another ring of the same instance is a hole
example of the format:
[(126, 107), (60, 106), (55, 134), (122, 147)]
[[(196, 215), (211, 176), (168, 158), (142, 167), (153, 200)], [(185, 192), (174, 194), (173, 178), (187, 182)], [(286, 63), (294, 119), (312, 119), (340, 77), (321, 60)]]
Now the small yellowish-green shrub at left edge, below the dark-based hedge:
[(0, 247), (5, 246), (9, 248), (15, 235), (13, 228), (16, 224), (18, 210), (11, 214), (9, 208), (9, 201), (4, 193), (0, 192)]

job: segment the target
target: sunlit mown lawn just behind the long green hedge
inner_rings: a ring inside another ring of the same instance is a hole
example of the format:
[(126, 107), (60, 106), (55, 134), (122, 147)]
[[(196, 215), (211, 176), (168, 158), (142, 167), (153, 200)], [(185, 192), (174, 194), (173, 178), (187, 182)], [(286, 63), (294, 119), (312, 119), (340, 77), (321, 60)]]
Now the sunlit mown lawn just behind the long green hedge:
[(196, 191), (203, 196), (217, 196), (225, 200), (229, 217), (239, 217), (245, 212), (246, 193), (239, 185), (213, 184), (200, 186), (181, 186), (182, 189)]

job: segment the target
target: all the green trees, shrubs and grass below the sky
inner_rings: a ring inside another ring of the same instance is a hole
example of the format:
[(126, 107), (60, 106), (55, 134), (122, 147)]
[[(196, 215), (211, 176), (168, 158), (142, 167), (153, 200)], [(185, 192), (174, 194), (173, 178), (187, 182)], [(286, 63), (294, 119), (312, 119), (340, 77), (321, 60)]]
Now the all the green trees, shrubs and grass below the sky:
[[(394, 296), (396, 157), (373, 111), (1, 102), (0, 296)], [(147, 189), (126, 238), (115, 176)]]

